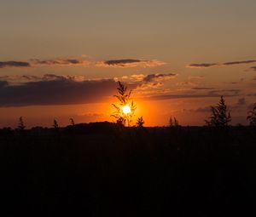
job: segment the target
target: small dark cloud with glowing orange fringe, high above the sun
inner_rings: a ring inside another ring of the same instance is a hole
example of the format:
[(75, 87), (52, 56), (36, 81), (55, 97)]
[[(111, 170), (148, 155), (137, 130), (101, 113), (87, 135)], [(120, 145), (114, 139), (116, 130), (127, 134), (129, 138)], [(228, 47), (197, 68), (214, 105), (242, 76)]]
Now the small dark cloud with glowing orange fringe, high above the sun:
[(154, 67), (166, 65), (166, 62), (160, 60), (136, 60), (136, 59), (123, 59), (123, 60), (107, 60), (97, 62), (98, 67), (115, 67), (115, 68), (130, 68), (130, 67)]

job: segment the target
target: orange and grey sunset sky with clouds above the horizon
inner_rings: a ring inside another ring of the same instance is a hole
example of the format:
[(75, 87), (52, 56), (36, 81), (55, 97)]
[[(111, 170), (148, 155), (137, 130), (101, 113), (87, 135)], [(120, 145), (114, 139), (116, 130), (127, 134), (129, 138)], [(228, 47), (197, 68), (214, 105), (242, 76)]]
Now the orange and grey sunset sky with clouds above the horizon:
[(0, 128), (113, 121), (116, 81), (147, 126), (256, 102), (255, 0), (2, 0)]

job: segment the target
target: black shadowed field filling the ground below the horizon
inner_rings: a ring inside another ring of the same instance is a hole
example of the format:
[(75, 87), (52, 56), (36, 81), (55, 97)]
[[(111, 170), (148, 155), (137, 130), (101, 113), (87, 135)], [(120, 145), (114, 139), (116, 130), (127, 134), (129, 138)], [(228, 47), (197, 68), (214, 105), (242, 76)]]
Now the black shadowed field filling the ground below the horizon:
[(0, 130), (1, 216), (255, 216), (256, 128)]

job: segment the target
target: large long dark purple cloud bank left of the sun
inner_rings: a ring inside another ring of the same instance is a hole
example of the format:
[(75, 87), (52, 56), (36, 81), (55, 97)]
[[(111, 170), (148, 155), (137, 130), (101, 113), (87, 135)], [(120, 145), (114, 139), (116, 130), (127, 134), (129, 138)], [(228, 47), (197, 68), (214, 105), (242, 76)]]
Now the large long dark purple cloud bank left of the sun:
[[(49, 79), (51, 77), (51, 79)], [(77, 82), (47, 75), (41, 81), (0, 82), (0, 106), (68, 105), (101, 102), (116, 92), (113, 79)]]

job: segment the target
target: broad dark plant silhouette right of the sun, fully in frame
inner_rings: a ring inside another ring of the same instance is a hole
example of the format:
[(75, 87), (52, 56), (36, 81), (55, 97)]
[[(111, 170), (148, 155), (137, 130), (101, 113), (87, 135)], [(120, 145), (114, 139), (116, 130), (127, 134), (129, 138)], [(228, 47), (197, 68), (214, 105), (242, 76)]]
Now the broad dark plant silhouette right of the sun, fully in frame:
[(231, 121), (230, 111), (225, 104), (224, 96), (220, 97), (217, 106), (211, 106), (212, 114), (205, 122), (209, 127), (227, 127)]

